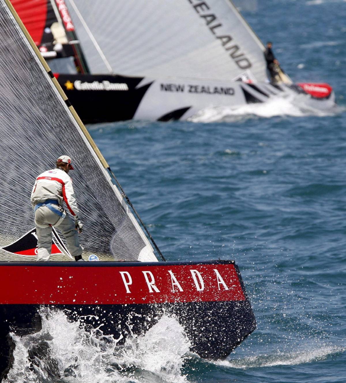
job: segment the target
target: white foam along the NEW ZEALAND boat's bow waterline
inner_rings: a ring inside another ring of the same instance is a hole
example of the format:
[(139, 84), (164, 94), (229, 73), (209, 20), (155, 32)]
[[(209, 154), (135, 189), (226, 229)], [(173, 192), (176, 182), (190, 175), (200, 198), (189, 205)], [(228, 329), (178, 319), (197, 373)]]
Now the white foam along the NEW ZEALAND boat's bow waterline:
[(341, 112), (341, 108), (337, 107), (332, 111), (317, 110), (304, 104), (298, 105), (292, 98), (273, 98), (265, 103), (247, 104), (239, 108), (231, 108), (228, 106), (210, 107), (199, 111), (196, 115), (189, 118), (189, 121), (197, 123), (211, 122), (234, 122), (243, 120), (244, 118), (270, 118), (275, 116), (330, 116)]

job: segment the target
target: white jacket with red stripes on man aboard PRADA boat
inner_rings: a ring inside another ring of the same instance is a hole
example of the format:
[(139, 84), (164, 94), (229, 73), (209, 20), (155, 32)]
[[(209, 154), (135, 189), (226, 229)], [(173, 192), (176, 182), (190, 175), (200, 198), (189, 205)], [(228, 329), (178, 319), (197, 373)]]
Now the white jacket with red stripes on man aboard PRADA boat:
[(36, 178), (31, 192), (31, 205), (46, 200), (58, 200), (60, 206), (65, 201), (66, 206), (74, 219), (78, 219), (78, 206), (74, 196), (71, 177), (61, 169), (47, 170)]

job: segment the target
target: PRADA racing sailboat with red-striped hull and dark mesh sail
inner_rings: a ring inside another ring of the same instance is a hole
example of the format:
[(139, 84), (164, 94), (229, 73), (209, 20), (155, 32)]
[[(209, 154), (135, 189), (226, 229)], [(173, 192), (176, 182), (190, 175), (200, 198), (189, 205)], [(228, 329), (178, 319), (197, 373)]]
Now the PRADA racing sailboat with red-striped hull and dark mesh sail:
[[(165, 261), (9, 0), (0, 0), (0, 35), (0, 372), (13, 362), (10, 334), (40, 331), (42, 306), (103, 326), (119, 345), (165, 313), (192, 352), (225, 358), (256, 326), (237, 265)], [(61, 153), (74, 161), (89, 262), (71, 262), (55, 229), (51, 262), (36, 262), (30, 192)]]

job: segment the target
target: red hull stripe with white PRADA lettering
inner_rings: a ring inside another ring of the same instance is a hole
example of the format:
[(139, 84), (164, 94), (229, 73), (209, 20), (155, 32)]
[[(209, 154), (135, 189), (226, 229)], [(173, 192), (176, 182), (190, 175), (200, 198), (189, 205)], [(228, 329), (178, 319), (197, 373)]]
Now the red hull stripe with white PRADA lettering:
[(233, 264), (2, 266), (0, 304), (244, 301)]

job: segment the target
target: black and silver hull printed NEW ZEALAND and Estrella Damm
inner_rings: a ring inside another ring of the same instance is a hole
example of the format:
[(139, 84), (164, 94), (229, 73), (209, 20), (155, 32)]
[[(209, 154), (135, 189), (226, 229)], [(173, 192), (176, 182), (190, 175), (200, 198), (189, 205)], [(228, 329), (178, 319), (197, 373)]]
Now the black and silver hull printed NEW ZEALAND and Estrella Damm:
[[(330, 110), (335, 106), (328, 84), (275, 85), (107, 74), (55, 76), (83, 123), (186, 120), (210, 106), (236, 109), (282, 97), (298, 97), (297, 103), (308, 109)], [(310, 95), (304, 87), (322, 89), (325, 93), (315, 97), (318, 92)]]

